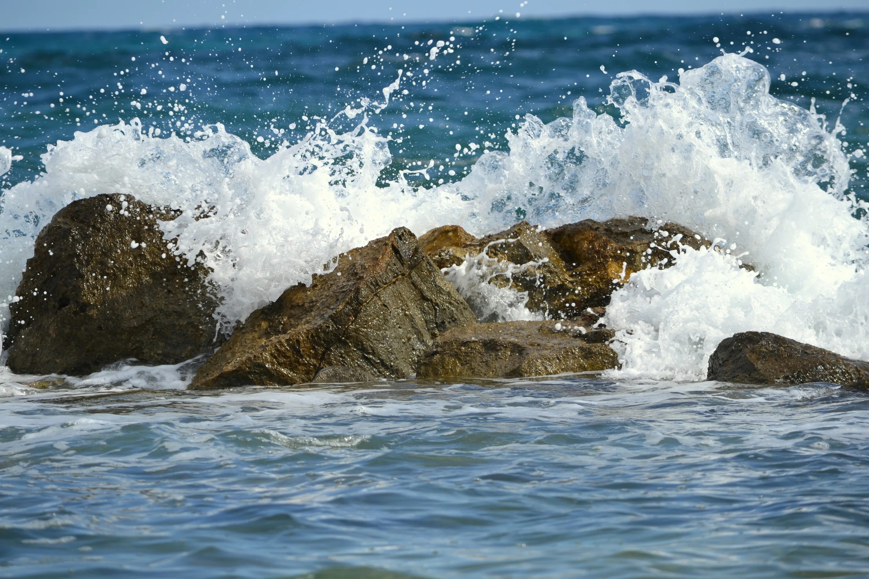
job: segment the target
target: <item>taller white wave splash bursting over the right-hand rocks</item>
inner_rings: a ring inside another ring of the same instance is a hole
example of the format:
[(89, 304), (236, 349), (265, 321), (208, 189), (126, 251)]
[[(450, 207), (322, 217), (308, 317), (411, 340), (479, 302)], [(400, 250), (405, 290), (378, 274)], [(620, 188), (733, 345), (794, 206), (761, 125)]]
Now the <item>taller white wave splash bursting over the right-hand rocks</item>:
[(686, 248), (676, 267), (636, 273), (614, 294), (605, 321), (619, 331), (616, 375), (704, 379), (720, 339), (746, 330), (869, 358), (867, 229), (854, 218), (865, 205), (847, 194), (842, 127), (769, 84), (737, 55), (679, 85), (621, 73), (609, 97), (619, 122), (581, 98), (572, 119), (527, 115), (508, 155), (484, 155), (444, 189), (487, 193), (493, 210), (469, 216), (481, 226), (640, 215), (716, 239), (720, 253)]

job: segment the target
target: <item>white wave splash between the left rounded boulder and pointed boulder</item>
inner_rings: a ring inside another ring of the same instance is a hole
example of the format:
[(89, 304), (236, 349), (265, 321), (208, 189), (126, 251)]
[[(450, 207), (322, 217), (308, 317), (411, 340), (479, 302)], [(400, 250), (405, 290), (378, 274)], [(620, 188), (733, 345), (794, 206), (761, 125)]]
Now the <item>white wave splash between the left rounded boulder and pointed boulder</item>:
[(328, 269), (337, 253), (412, 220), (414, 196), (375, 186), (389, 161), (386, 139), (364, 120), (346, 135), (321, 123), (264, 161), (220, 125), (190, 142), (145, 134), (137, 120), (76, 133), (43, 155), (40, 178), (4, 194), (3, 294), (14, 293), (33, 237), (60, 207), (133, 194), (183, 210), (163, 224), (167, 250), (186, 263), (205, 257), (230, 326)]

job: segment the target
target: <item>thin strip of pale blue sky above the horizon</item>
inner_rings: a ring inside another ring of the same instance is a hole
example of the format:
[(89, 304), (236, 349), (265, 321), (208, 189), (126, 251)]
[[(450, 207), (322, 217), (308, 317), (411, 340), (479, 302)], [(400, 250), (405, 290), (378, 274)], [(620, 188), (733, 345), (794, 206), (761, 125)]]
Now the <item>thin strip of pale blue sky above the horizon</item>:
[[(500, 12), (502, 10), (502, 12)], [(0, 30), (869, 10), (869, 0), (0, 0)]]

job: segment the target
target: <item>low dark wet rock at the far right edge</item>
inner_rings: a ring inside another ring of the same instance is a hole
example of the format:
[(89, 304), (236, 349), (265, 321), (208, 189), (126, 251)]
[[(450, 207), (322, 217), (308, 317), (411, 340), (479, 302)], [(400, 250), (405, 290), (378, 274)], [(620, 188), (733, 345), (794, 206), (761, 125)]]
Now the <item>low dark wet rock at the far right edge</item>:
[(770, 332), (740, 332), (715, 348), (706, 378), (738, 384), (830, 382), (866, 390), (869, 362)]

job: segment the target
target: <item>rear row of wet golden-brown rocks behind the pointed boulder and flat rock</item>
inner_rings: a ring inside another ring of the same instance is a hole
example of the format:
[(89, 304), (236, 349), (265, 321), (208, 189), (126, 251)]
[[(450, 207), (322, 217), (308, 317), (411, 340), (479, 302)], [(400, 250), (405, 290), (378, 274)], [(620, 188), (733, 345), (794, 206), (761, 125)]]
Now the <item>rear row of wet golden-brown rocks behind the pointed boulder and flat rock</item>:
[(680, 246), (711, 245), (685, 227), (666, 223), (652, 229), (647, 223), (639, 217), (584, 220), (541, 230), (522, 221), (481, 239), (459, 226), (445, 226), (422, 235), (420, 245), (441, 268), (483, 252), (512, 264), (509, 273), (494, 272), (488, 283), (527, 293), (526, 307), (532, 312), (573, 319), (589, 307), (607, 306), (632, 273), (647, 266), (672, 266)]

